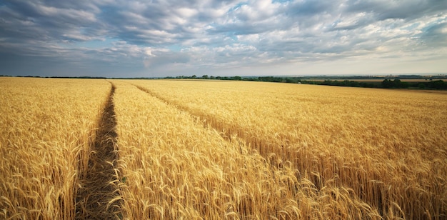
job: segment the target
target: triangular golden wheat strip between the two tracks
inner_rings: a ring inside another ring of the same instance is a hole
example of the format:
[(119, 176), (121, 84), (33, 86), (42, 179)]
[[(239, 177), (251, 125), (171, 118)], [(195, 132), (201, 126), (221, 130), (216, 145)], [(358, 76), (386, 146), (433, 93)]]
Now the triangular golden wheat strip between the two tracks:
[[(270, 159), (277, 164), (272, 166), (237, 136), (224, 138), (198, 118), (136, 86), (114, 84), (119, 164), (125, 179), (121, 190), (128, 219), (378, 215), (347, 189), (316, 189), (290, 162)], [(333, 191), (340, 196), (333, 198)], [(326, 202), (331, 204), (321, 205)]]

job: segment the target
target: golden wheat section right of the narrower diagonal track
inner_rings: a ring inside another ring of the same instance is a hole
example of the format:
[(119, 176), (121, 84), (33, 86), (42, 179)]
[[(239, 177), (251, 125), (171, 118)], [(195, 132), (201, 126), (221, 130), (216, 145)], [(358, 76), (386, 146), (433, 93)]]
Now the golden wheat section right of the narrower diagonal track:
[(278, 159), (290, 162), (317, 191), (343, 187), (385, 219), (446, 218), (445, 94), (233, 81), (131, 83), (226, 136), (237, 135), (273, 166), (280, 166)]

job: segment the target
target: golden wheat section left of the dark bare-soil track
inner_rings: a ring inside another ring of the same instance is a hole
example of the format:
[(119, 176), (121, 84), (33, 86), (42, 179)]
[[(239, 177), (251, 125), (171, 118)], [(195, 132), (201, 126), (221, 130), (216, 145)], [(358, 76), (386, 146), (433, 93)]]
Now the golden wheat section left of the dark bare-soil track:
[(109, 90), (106, 81), (0, 78), (0, 219), (74, 219)]

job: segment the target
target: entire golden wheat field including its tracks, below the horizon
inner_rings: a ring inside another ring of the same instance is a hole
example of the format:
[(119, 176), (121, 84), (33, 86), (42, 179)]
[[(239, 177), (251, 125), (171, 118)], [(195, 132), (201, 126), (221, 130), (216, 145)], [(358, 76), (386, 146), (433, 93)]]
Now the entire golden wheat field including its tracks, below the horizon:
[(447, 94), (0, 78), (0, 219), (446, 219)]

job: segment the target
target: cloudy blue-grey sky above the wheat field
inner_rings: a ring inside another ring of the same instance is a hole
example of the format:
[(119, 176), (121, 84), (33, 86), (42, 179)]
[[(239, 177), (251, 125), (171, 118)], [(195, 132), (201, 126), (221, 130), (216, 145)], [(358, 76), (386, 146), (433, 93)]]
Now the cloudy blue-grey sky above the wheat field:
[(0, 75), (446, 72), (446, 0), (0, 1)]

